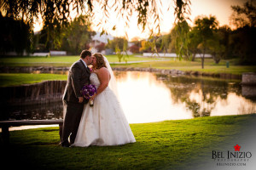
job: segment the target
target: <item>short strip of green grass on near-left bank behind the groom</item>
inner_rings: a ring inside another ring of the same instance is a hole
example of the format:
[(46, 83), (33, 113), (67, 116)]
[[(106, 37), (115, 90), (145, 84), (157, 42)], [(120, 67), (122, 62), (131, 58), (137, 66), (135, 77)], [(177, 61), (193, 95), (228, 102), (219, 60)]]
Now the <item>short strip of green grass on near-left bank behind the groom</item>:
[(30, 73), (0, 73), (0, 87), (19, 86), (36, 82), (67, 80), (67, 75), (61, 74), (30, 74)]

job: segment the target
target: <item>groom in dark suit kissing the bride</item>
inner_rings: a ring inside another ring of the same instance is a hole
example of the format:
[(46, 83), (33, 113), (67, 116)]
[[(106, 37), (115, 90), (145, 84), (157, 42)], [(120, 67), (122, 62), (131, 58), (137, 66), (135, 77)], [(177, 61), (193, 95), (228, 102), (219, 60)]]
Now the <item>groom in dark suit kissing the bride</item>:
[(80, 59), (71, 65), (68, 72), (67, 86), (63, 94), (64, 113), (65, 107), (67, 107), (61, 135), (61, 146), (63, 147), (69, 147), (70, 144), (73, 144), (79, 129), (84, 104), (88, 103), (88, 100), (80, 94), (80, 90), (84, 84), (90, 83), (90, 70), (87, 67), (90, 64), (91, 52), (83, 50)]

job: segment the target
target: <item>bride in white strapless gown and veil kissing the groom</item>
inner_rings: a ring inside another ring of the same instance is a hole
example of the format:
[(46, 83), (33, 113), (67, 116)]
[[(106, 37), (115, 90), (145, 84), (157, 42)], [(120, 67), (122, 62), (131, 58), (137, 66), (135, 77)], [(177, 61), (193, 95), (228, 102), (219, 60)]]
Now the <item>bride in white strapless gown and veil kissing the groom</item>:
[(119, 145), (135, 142), (131, 128), (117, 98), (113, 71), (102, 54), (92, 55), (90, 83), (97, 88), (91, 98), (94, 105), (84, 105), (79, 130), (72, 146)]

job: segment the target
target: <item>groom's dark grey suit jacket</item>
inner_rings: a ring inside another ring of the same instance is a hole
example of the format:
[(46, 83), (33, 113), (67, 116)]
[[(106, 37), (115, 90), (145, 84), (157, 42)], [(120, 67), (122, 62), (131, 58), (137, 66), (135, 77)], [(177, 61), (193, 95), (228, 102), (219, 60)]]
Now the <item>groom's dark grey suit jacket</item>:
[[(82, 97), (80, 93), (85, 84), (90, 83), (90, 70), (85, 67), (83, 61), (79, 59), (73, 65), (71, 65), (68, 77), (67, 85), (63, 94), (63, 100), (66, 103), (79, 103), (79, 97)], [(88, 100), (84, 99), (84, 104)]]

